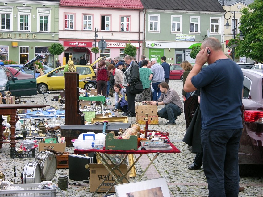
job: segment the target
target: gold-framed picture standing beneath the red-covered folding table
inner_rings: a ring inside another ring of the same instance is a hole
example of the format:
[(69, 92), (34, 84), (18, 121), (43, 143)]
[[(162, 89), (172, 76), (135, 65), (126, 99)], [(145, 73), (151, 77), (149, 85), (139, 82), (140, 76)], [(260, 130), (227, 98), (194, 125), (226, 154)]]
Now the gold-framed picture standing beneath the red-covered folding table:
[[(109, 159), (104, 155), (101, 154), (102, 157), (106, 160), (106, 162), (108, 164), (111, 164), (111, 162), (109, 161)], [(111, 159), (111, 161), (115, 164), (119, 164), (123, 158), (125, 157), (124, 154), (107, 154), (107, 156)], [(101, 161), (98, 159), (97, 157), (97, 163), (101, 164)], [(123, 164), (126, 164), (127, 166), (131, 166), (134, 163), (134, 157), (133, 154), (129, 154), (128, 157), (126, 158), (126, 160), (123, 162)], [(136, 170), (135, 170), (135, 166), (133, 166), (130, 170), (130, 177), (136, 177)]]

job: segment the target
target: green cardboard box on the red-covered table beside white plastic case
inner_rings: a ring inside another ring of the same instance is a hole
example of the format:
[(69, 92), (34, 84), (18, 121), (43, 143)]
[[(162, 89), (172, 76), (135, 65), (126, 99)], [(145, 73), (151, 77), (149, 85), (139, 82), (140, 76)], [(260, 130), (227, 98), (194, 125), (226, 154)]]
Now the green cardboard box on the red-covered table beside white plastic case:
[(130, 139), (117, 139), (113, 133), (106, 135), (105, 150), (138, 150), (137, 135), (131, 135)]

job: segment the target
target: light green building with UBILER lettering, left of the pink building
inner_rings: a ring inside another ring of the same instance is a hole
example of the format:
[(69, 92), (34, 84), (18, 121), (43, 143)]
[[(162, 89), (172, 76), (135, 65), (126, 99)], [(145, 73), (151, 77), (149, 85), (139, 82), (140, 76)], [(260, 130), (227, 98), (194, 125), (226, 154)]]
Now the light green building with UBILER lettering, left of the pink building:
[(53, 67), (48, 47), (58, 42), (58, 9), (59, 0), (0, 0), (0, 59), (25, 64), (42, 53)]

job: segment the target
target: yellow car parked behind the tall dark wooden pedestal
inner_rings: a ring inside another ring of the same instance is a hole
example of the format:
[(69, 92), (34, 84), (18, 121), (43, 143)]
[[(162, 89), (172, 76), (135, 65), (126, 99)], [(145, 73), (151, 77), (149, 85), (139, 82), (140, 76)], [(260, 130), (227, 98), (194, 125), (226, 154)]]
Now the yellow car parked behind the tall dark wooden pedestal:
[[(65, 88), (64, 79), (64, 67), (60, 66), (45, 75), (36, 78), (37, 91), (46, 93), (48, 90), (63, 90)], [(96, 76), (94, 69), (90, 65), (75, 65), (76, 72), (79, 72), (79, 80), (86, 79), (86, 77)], [(96, 81), (90, 81), (89, 83), (79, 82), (79, 86), (83, 89), (95, 87)], [(87, 87), (89, 86), (89, 87)]]

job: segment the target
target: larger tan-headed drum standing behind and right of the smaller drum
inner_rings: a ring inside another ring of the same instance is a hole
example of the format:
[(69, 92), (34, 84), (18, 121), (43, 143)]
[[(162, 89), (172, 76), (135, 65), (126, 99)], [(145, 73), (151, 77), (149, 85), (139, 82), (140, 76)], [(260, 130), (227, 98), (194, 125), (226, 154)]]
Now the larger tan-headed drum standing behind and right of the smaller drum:
[(51, 179), (53, 179), (56, 173), (57, 161), (56, 156), (52, 152), (39, 152), (35, 156), (34, 162), (40, 164), (42, 180), (50, 181)]

